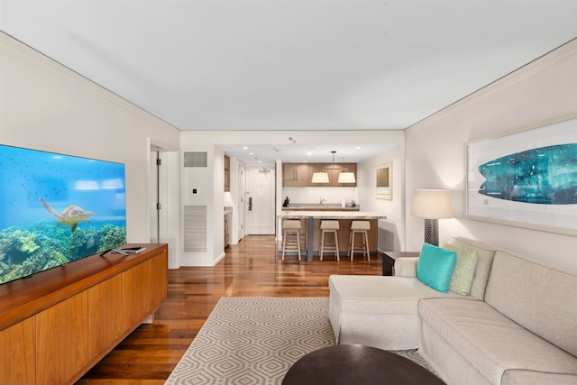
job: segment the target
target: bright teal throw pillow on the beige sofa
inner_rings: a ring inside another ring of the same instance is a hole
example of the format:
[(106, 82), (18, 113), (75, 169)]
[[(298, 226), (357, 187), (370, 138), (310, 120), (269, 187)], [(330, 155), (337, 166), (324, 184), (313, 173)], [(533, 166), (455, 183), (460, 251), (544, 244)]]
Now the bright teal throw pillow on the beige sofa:
[(435, 290), (446, 293), (449, 291), (456, 263), (456, 252), (425, 243), (417, 261), (417, 280)]

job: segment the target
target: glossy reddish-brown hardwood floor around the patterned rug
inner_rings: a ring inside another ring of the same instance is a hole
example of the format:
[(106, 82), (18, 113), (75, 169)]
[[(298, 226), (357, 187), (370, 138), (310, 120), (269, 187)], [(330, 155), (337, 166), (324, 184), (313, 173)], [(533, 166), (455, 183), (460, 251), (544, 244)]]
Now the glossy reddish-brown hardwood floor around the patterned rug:
[(169, 270), (169, 297), (154, 323), (139, 326), (77, 384), (163, 384), (221, 297), (328, 297), (330, 274), (381, 273), (377, 258), (280, 261), (276, 250), (274, 236), (251, 235), (213, 268)]

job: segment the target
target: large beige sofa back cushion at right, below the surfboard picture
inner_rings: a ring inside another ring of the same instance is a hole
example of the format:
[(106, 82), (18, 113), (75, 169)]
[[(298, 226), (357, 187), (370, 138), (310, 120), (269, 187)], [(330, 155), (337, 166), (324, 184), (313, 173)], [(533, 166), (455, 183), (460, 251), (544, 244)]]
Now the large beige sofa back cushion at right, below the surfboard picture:
[(577, 356), (577, 276), (495, 253), (485, 301), (500, 313)]

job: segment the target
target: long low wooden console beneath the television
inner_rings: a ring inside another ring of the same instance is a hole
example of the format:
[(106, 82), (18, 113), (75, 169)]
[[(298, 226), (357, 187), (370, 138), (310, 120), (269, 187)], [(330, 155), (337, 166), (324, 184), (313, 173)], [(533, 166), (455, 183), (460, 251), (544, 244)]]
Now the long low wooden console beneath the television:
[(167, 298), (168, 246), (108, 252), (0, 286), (0, 383), (74, 383)]

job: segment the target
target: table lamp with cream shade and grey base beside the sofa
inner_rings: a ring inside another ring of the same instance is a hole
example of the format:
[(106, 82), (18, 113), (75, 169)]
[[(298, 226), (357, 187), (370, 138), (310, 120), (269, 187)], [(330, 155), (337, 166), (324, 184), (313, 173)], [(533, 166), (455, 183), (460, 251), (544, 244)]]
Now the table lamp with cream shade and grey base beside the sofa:
[(453, 218), (449, 190), (415, 190), (411, 215), (425, 218), (425, 242), (439, 245), (439, 219)]

